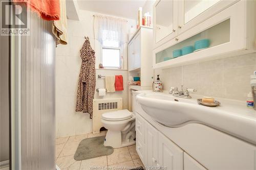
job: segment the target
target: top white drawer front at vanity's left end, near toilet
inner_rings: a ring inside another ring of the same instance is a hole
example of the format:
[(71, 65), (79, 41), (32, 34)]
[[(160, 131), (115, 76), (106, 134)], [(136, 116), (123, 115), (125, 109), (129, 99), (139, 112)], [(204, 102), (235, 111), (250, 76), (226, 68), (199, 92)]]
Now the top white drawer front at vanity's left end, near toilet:
[(136, 113), (136, 139), (145, 143), (145, 120)]

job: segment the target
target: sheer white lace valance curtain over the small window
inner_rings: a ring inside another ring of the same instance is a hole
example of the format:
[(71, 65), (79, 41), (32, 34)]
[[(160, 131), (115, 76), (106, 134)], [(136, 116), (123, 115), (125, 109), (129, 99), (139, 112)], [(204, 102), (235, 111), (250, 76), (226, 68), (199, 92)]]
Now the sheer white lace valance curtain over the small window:
[(101, 44), (105, 40), (119, 41), (120, 46), (127, 42), (127, 21), (111, 16), (94, 16), (94, 37)]

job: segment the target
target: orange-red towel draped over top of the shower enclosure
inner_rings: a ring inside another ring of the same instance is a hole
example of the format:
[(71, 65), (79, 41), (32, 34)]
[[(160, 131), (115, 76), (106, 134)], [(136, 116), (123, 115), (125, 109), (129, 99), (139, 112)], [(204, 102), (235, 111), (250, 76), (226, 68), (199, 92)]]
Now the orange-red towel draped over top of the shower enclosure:
[(42, 19), (59, 20), (61, 0), (15, 0), (15, 3), (26, 3), (33, 11), (37, 12)]

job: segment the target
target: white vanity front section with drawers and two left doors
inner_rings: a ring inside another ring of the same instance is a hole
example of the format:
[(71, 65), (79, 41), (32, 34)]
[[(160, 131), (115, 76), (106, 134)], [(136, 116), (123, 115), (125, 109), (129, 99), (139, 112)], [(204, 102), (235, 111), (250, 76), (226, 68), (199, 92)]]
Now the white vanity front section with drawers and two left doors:
[(144, 166), (183, 169), (183, 150), (139, 114), (136, 114), (136, 151)]

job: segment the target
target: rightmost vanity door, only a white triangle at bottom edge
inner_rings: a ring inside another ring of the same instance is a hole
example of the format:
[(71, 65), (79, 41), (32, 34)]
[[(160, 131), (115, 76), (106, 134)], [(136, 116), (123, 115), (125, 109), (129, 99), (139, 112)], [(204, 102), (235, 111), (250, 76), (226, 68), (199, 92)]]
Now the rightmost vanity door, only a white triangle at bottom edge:
[(184, 152), (184, 170), (207, 170), (198, 161)]

